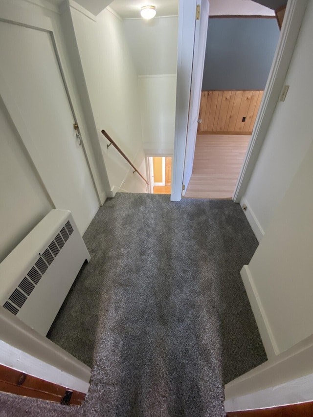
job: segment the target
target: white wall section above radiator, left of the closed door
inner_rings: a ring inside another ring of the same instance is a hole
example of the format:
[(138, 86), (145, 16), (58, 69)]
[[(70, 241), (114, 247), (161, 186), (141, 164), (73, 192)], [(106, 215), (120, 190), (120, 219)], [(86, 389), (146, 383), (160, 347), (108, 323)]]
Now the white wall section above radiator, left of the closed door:
[(54, 208), (0, 99), (0, 262)]

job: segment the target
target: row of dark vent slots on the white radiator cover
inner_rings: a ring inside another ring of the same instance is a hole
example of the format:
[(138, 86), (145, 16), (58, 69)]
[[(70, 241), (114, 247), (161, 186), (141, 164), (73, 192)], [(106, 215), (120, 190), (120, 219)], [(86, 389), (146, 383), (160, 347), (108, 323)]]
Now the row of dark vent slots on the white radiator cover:
[[(3, 307), (10, 311), (12, 314), (17, 315), (20, 308), (23, 306), (27, 297), (30, 296), (35, 286), (39, 283), (45, 271), (53, 262), (54, 258), (60, 252), (65, 245), (65, 242), (69, 239), (74, 229), (68, 220), (62, 227), (60, 233), (54, 238), (54, 240), (45, 249), (43, 255), (36, 261), (35, 265), (29, 270), (18, 285), (9, 299), (3, 304)], [(62, 235), (62, 236), (61, 236)], [(62, 239), (63, 238), (63, 239)]]

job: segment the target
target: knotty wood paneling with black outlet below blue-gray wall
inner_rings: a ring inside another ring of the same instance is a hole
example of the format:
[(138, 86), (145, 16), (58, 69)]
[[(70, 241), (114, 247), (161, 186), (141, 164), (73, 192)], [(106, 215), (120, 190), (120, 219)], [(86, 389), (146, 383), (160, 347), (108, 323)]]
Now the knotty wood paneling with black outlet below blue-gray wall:
[(263, 91), (202, 91), (198, 133), (251, 134)]

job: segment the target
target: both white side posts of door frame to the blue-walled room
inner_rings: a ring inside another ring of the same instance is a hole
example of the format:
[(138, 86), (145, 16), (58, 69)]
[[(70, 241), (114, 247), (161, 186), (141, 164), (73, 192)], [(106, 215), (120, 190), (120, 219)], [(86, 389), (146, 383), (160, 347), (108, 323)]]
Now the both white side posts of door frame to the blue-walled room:
[[(182, 193), (193, 44), (195, 39), (194, 10), (196, 4), (196, 0), (179, 0), (177, 96), (171, 194), (172, 201), (180, 201)], [(285, 78), (307, 4), (308, 0), (288, 0), (284, 23), (268, 75), (268, 81), (232, 197), (236, 203), (241, 201), (246, 192), (249, 179), (266, 138), (273, 112), (277, 101), (279, 100), (282, 88), (284, 87)]]

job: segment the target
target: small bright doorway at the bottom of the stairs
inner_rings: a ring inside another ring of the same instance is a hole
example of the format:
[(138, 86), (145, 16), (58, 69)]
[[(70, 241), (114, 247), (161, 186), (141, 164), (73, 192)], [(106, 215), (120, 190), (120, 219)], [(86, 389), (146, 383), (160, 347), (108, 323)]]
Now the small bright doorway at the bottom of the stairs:
[(151, 194), (171, 194), (172, 156), (148, 156)]

